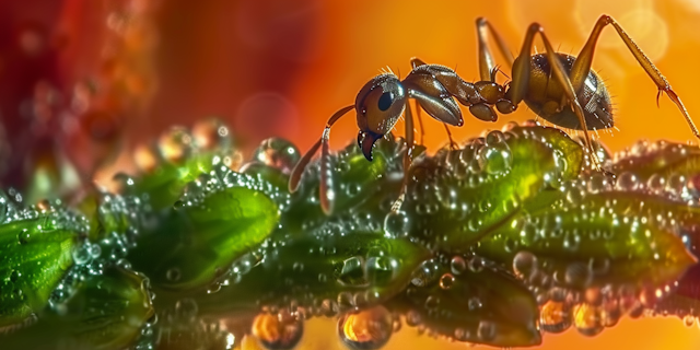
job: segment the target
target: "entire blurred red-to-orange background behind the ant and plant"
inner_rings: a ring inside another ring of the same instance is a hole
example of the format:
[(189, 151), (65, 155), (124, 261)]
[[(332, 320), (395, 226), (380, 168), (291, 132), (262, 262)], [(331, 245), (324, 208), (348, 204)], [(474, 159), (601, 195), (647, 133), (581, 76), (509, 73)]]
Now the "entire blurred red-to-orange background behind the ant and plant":
[[(416, 56), (477, 80), (477, 16), (489, 19), (513, 52), (537, 21), (555, 46), (576, 55), (602, 13), (621, 23), (700, 122), (700, 0), (0, 0), (0, 156), (8, 160), (0, 174), (3, 185), (21, 184), (27, 168), (66, 156), (83, 178), (98, 168), (106, 177), (132, 168), (124, 154), (135, 144), (210, 116), (244, 144), (277, 136), (305, 151), (382, 68), (405, 75)], [(673, 103), (662, 97), (656, 107), (655, 85), (611, 30), (594, 69), (614, 96), (619, 130), (600, 133), (611, 150), (640, 139), (692, 139)], [(458, 140), (535, 117), (524, 105), (495, 124), (468, 116), (453, 129)], [(446, 142), (439, 122), (424, 125), (431, 150)], [(342, 119), (331, 145), (355, 135), (353, 117)], [(340, 349), (328, 336), (330, 322), (308, 326), (306, 347)], [(438, 347), (463, 345), (416, 337), (407, 327), (389, 342)], [(594, 338), (549, 335), (541, 349), (699, 347), (696, 326), (643, 318)]]

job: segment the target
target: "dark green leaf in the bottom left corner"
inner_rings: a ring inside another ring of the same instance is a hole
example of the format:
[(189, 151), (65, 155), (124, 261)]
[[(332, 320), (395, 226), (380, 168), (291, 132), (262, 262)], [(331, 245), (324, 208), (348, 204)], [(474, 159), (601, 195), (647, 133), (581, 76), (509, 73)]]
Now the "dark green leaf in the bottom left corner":
[(77, 291), (47, 308), (36, 325), (2, 338), (9, 349), (118, 350), (128, 347), (153, 315), (148, 279), (109, 267), (84, 276)]

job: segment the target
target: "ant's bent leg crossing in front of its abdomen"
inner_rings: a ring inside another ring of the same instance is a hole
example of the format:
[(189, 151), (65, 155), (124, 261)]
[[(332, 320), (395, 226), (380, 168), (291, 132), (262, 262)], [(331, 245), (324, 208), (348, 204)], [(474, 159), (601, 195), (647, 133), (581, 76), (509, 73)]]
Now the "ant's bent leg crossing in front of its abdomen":
[(571, 108), (579, 118), (579, 124), (581, 125), (581, 129), (583, 130), (583, 135), (586, 141), (586, 148), (593, 159), (595, 167), (597, 170), (602, 170), (600, 161), (596, 156), (595, 149), (593, 148), (593, 142), (591, 142), (591, 136), (588, 135), (588, 127), (586, 126), (586, 119), (583, 114), (583, 108), (579, 103), (579, 98), (576, 97), (575, 90), (563, 66), (561, 66), (561, 61), (555, 49), (551, 47), (547, 35), (545, 35), (545, 30), (538, 23), (533, 23), (527, 28), (527, 34), (525, 35), (525, 40), (523, 42), (523, 48), (521, 49), (521, 54), (515, 60), (515, 65), (513, 67), (513, 83), (512, 83), (512, 102), (513, 105), (517, 105), (521, 101), (523, 101), (523, 96), (525, 95), (525, 91), (527, 89), (527, 84), (529, 82), (529, 73), (530, 73), (530, 60), (533, 40), (535, 35), (539, 33), (539, 36), (542, 38), (545, 43), (545, 49), (547, 51), (547, 59), (552, 67), (552, 71), (555, 72), (555, 78), (559, 81), (561, 86), (563, 88), (564, 96), (569, 100), (571, 104)]

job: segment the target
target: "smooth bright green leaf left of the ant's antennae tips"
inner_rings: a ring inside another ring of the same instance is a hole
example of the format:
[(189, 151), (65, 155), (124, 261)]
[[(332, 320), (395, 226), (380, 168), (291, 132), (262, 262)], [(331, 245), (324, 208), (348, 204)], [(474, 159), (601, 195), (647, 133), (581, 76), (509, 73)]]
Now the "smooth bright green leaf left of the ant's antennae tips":
[(201, 202), (171, 209), (144, 230), (128, 255), (156, 290), (202, 289), (256, 248), (278, 221), (277, 206), (246, 187), (215, 190)]

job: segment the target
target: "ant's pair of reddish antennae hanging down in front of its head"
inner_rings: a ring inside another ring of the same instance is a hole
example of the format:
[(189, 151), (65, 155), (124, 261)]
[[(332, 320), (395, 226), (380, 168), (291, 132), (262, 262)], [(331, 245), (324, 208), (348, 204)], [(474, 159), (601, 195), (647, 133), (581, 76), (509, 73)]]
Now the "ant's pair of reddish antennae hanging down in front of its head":
[(350, 105), (343, 108), (340, 108), (326, 122), (326, 128), (324, 129), (324, 133), (318, 141), (304, 154), (304, 156), (296, 163), (294, 170), (292, 170), (292, 174), (289, 178), (289, 191), (294, 192), (299, 188), (299, 183), (301, 180), (302, 174), (304, 170), (308, 165), (308, 162), (314, 156), (314, 153), (318, 151), (320, 147), (320, 187), (318, 191), (318, 197), (320, 197), (320, 208), (326, 214), (330, 214), (332, 212), (332, 200), (335, 198), (335, 192), (332, 190), (332, 179), (330, 171), (328, 170), (328, 139), (330, 138), (330, 127), (338, 120), (340, 117), (346, 115), (348, 112), (354, 108), (354, 105)]

